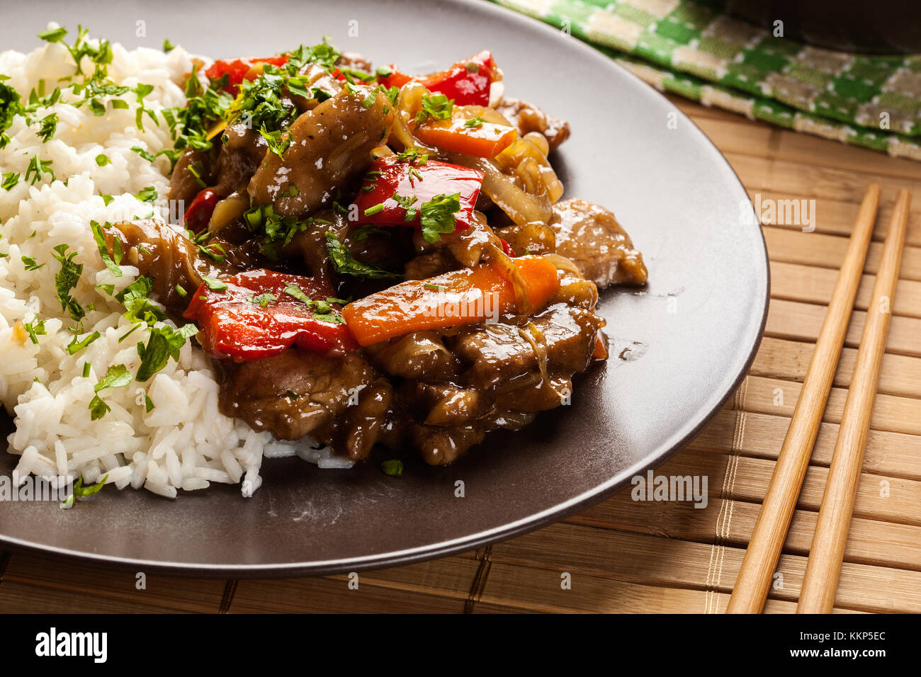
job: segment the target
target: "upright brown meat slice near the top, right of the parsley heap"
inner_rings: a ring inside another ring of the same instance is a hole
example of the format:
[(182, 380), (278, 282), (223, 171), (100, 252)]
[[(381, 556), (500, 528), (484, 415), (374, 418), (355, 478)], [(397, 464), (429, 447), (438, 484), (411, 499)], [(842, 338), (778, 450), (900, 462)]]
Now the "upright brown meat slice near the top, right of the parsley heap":
[(390, 134), (393, 107), (383, 92), (354, 91), (344, 89), (301, 114), (286, 133), (291, 144), (284, 159), (266, 153), (249, 187), (257, 204), (274, 203), (280, 216), (309, 216), (368, 168), (371, 150)]

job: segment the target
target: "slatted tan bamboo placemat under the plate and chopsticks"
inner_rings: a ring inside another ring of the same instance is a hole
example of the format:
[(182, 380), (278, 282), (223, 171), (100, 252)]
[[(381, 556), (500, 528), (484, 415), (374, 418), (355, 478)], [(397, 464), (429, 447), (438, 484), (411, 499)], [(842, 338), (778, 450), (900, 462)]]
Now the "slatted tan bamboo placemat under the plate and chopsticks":
[[(752, 199), (814, 199), (818, 214), (812, 233), (764, 225), (771, 307), (752, 370), (690, 447), (656, 470), (708, 475), (706, 508), (635, 502), (626, 492), (475, 553), (362, 573), (358, 589), (344, 576), (238, 581), (150, 574), (139, 590), (134, 571), (0, 554), (0, 611), (722, 612), (857, 205), (866, 185), (879, 181), (882, 209), (857, 311), (765, 611), (796, 609), (883, 229), (904, 186), (914, 192), (915, 207), (835, 609), (921, 613), (921, 167), (671, 100), (717, 144)], [(565, 574), (569, 589), (562, 585)]]

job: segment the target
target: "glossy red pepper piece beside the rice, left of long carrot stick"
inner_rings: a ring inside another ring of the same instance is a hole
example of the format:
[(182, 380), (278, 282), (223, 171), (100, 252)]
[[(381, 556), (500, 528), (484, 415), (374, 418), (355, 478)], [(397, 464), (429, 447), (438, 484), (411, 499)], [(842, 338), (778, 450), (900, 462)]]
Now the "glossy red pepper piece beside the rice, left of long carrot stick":
[(313, 278), (252, 270), (220, 283), (227, 288), (198, 287), (184, 315), (198, 322), (198, 340), (209, 355), (244, 362), (291, 345), (316, 353), (357, 345), (339, 304), (326, 300), (331, 290)]

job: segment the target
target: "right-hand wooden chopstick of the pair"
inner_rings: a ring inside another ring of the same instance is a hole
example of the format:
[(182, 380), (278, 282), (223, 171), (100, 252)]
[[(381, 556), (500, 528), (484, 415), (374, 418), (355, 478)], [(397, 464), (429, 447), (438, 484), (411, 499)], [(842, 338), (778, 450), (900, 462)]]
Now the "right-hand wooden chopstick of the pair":
[(899, 281), (911, 204), (911, 193), (899, 191), (886, 233), (886, 243), (882, 248), (873, 295), (870, 297), (867, 323), (857, 349), (857, 365), (847, 391), (841, 428), (834, 444), (832, 466), (828, 471), (822, 507), (819, 508), (819, 519), (812, 536), (797, 613), (832, 613), (834, 607), (834, 594), (838, 589), (847, 532), (854, 513), (857, 484), (860, 482), (860, 469), (867, 446), (870, 414), (880, 382), (882, 356), (886, 351), (886, 337), (892, 318), (892, 298)]

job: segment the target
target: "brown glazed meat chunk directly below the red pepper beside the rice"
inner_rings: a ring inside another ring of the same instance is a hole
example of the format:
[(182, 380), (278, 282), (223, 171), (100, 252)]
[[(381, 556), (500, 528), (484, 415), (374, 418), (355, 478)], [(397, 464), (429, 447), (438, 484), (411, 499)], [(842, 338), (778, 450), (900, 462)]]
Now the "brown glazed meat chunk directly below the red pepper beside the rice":
[(222, 362), (223, 414), (279, 439), (315, 438), (352, 458), (377, 440), (391, 403), (390, 384), (358, 353), (320, 355), (290, 348), (251, 362)]

